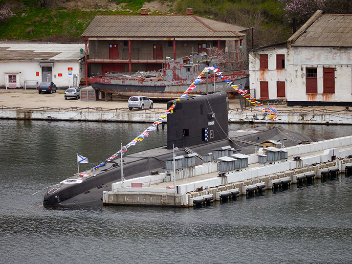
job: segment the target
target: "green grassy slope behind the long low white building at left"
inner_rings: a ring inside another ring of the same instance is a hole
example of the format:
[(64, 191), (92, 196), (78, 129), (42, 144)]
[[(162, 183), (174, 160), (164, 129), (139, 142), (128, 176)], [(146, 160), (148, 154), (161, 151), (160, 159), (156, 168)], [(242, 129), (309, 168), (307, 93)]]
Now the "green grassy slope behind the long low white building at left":
[[(0, 4), (4, 1), (0, 1)], [(1, 40), (46, 40), (55, 42), (80, 41), (82, 33), (96, 15), (130, 15), (139, 14), (143, 0), (127, 1), (126, 8), (132, 9), (121, 11), (102, 11), (79, 9), (69, 10), (66, 8), (40, 8), (27, 3), (25, 10), (12, 12), (16, 16), (6, 23), (0, 23)]]

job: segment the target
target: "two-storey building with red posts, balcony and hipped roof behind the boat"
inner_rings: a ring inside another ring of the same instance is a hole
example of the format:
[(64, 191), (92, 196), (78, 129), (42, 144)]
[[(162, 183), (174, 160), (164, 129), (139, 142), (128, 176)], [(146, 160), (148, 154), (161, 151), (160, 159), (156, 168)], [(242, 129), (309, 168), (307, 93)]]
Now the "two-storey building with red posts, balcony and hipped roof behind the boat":
[(212, 50), (241, 68), (247, 28), (188, 15), (96, 16), (83, 33), (89, 48), (87, 76), (110, 71), (136, 72), (162, 68), (176, 59)]

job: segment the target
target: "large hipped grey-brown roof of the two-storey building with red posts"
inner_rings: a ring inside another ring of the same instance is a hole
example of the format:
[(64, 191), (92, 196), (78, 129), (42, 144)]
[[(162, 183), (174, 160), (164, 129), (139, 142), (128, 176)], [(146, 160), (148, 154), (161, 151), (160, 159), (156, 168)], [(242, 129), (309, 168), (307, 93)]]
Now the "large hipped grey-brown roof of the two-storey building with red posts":
[(233, 31), (240, 27), (228, 23), (203, 19), (197, 16), (96, 16), (89, 24), (84, 37), (238, 37)]

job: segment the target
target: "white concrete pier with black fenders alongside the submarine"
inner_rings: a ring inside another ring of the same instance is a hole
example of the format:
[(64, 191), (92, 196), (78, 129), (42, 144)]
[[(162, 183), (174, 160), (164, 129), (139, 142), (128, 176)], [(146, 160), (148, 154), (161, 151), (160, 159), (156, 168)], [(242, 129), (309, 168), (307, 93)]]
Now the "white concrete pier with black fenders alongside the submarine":
[[(190, 178), (165, 181), (167, 173), (112, 184), (103, 193), (104, 205), (144, 205), (189, 207), (228, 197), (264, 192), (282, 185), (295, 184), (352, 168), (352, 136), (284, 148), (287, 161), (258, 163), (258, 155), (249, 155), (248, 169), (219, 175), (215, 161), (196, 166)], [(171, 175), (173, 178), (173, 175)], [(139, 183), (139, 188), (132, 183)]]

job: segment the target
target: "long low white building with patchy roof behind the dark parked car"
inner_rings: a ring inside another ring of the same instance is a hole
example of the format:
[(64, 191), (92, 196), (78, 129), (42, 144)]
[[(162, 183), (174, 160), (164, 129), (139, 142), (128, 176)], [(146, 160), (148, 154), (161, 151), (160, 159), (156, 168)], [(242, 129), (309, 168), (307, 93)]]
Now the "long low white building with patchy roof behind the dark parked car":
[(54, 82), (58, 88), (79, 86), (85, 78), (84, 44), (0, 42), (0, 87), (36, 88)]

